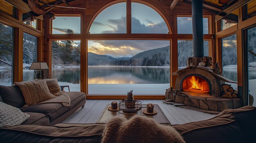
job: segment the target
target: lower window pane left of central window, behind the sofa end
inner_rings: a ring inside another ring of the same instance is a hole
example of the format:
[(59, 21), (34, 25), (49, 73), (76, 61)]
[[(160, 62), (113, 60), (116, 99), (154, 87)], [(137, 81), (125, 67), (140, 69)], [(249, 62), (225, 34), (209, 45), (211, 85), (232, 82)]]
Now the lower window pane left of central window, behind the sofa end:
[(52, 78), (60, 86), (69, 85), (71, 91), (81, 91), (80, 50), (80, 40), (52, 41)]

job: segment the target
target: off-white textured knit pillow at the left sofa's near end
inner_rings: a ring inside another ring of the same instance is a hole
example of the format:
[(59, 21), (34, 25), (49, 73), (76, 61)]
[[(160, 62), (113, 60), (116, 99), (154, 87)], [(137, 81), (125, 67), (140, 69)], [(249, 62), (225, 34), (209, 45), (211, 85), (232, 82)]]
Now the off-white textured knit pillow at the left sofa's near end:
[(5, 125), (20, 125), (29, 118), (29, 114), (23, 113), (20, 109), (0, 102), (0, 127)]

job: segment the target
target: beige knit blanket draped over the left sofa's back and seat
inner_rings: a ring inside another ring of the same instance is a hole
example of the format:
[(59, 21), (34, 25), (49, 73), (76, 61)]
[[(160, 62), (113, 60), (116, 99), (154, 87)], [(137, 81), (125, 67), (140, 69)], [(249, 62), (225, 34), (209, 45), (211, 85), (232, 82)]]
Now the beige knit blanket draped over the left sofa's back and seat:
[(25, 98), (26, 105), (34, 105), (40, 103), (61, 103), (63, 106), (70, 106), (70, 97), (65, 91), (55, 94), (49, 92), (46, 81), (25, 81), (15, 82), (14, 86), (19, 86)]

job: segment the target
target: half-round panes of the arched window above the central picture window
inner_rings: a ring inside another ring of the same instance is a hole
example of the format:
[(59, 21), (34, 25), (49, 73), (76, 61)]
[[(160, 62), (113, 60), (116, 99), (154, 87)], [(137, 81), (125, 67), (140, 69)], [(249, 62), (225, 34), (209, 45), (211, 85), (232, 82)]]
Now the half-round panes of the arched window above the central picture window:
[[(90, 27), (90, 34), (126, 33), (126, 2), (113, 4), (97, 15)], [(169, 30), (161, 15), (153, 8), (132, 2), (132, 33), (168, 34)]]

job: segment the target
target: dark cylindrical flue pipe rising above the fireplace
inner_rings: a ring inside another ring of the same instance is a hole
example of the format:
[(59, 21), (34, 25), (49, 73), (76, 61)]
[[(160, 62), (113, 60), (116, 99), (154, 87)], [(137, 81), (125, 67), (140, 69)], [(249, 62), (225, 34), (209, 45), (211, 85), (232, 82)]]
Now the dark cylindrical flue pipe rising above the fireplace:
[(203, 0), (192, 0), (193, 55), (204, 57)]

